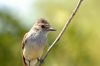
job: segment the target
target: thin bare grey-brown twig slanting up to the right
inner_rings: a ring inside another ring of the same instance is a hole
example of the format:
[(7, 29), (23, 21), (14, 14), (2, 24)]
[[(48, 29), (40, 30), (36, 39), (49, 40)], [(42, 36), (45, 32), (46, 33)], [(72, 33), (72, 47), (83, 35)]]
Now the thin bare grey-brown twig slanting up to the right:
[[(44, 61), (48, 55), (48, 53), (51, 51), (51, 49), (54, 47), (54, 45), (56, 45), (56, 43), (59, 41), (59, 39), (62, 37), (62, 35), (64, 34), (65, 30), (67, 29), (69, 23), (71, 22), (71, 20), (73, 19), (74, 15), (76, 14), (77, 10), (79, 9), (81, 3), (83, 0), (79, 0), (78, 4), (76, 5), (74, 11), (72, 12), (72, 14), (70, 15), (69, 19), (67, 20), (65, 26), (63, 27), (63, 29), (61, 30), (61, 32), (59, 33), (59, 35), (57, 36), (57, 38), (55, 39), (55, 41), (51, 44), (51, 46), (48, 48), (46, 54), (43, 56), (42, 61)], [(41, 66), (43, 64), (43, 62), (40, 62), (38, 64), (38, 66)]]

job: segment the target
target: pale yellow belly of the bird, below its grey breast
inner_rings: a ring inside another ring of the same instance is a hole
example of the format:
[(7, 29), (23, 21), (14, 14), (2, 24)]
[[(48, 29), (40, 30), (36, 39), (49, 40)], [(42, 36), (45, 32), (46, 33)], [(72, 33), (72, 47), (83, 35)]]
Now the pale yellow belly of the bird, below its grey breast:
[(28, 60), (40, 58), (42, 53), (43, 53), (43, 47), (38, 47), (38, 46), (26, 46), (23, 50), (23, 55)]

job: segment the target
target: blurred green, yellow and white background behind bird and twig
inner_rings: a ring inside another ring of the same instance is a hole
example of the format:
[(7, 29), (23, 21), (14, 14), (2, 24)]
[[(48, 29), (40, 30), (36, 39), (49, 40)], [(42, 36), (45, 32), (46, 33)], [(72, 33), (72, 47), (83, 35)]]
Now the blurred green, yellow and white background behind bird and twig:
[[(0, 66), (22, 66), (21, 41), (39, 18), (57, 30), (50, 45), (78, 0), (0, 0)], [(42, 66), (100, 66), (100, 1), (84, 0), (66, 32)]]

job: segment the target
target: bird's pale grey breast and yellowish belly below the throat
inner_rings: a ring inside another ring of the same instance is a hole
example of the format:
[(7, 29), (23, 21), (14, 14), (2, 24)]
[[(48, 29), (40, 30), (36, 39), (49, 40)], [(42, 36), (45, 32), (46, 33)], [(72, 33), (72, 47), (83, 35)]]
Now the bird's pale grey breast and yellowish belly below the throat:
[(27, 59), (37, 58), (40, 57), (45, 43), (46, 43), (46, 37), (45, 36), (32, 36), (27, 39), (27, 42), (25, 44), (23, 55)]

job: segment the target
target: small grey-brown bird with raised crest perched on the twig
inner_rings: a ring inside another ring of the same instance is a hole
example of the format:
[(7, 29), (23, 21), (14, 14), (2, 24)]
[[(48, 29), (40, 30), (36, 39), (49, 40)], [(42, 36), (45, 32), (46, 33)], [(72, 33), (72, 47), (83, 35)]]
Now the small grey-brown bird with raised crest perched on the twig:
[(40, 60), (47, 43), (48, 32), (56, 31), (44, 18), (38, 19), (22, 40), (24, 66), (35, 66)]

